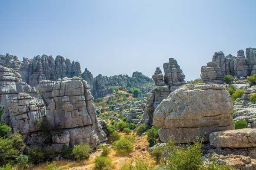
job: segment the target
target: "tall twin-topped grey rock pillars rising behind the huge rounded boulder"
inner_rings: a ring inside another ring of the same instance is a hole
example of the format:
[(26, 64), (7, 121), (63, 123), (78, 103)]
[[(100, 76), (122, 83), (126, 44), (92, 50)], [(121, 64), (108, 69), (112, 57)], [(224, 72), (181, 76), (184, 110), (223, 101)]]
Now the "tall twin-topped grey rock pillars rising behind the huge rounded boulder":
[(146, 104), (146, 110), (143, 114), (141, 123), (151, 126), (153, 122), (153, 112), (163, 99), (179, 88), (181, 85), (186, 84), (185, 75), (180, 69), (177, 61), (173, 58), (169, 59), (169, 62), (163, 64), (164, 75), (159, 67), (156, 68), (154, 75), (152, 76), (155, 82), (156, 88), (150, 92)]

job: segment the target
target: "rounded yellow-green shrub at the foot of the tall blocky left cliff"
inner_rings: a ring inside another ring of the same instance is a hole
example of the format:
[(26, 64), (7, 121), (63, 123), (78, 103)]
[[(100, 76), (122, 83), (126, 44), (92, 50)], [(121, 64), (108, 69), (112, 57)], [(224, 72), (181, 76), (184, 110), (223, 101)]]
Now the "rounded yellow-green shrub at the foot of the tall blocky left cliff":
[(84, 160), (90, 157), (91, 150), (89, 144), (78, 144), (73, 147), (72, 155), (76, 160)]

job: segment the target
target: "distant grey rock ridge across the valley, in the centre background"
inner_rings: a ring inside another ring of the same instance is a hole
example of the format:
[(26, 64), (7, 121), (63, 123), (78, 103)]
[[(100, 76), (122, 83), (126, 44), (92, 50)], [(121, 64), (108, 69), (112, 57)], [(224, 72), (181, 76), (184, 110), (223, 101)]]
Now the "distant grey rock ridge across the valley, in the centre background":
[[(88, 79), (90, 82), (90, 78), (85, 78), (86, 81)], [(115, 86), (139, 87), (147, 82), (152, 82), (152, 80), (141, 72), (133, 72), (132, 77), (128, 75), (113, 75), (108, 77), (99, 74), (93, 79), (93, 97), (99, 98), (106, 96), (113, 92), (112, 87)]]

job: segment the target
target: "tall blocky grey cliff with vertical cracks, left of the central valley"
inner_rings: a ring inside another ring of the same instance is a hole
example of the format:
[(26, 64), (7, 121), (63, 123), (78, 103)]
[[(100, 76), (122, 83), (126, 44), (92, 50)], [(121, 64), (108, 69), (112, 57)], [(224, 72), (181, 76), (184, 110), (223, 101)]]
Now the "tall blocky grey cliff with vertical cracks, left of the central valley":
[(48, 102), (47, 120), (55, 128), (69, 134), (70, 145), (89, 143), (95, 147), (107, 140), (97, 121), (90, 86), (83, 78), (63, 78), (57, 82), (41, 81), (39, 87), (43, 89), (41, 95)]

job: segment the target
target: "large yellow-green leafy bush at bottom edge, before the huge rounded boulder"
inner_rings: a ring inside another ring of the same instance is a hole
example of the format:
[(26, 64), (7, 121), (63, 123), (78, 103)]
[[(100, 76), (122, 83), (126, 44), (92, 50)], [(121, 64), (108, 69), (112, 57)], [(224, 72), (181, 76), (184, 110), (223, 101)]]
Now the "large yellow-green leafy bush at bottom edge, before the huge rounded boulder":
[(199, 140), (183, 147), (175, 145), (173, 140), (166, 144), (166, 169), (168, 170), (199, 170), (203, 165), (201, 148), (203, 143)]

